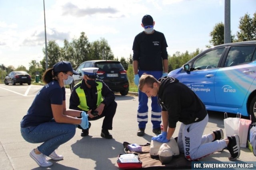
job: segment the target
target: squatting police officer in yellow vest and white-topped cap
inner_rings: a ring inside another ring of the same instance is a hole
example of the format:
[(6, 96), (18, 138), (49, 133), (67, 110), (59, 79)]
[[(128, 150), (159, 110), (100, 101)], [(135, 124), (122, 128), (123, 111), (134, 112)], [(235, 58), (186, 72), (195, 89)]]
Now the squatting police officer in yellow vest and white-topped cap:
[[(104, 117), (100, 136), (112, 139), (108, 130), (112, 130), (113, 117), (116, 113), (117, 104), (115, 95), (108, 86), (98, 78), (99, 68), (82, 68), (84, 78), (74, 86), (70, 96), (70, 109), (86, 111), (89, 114), (88, 121), (93, 121)], [(104, 99), (102, 98), (104, 97)], [(91, 123), (89, 122), (89, 128)], [(80, 128), (78, 126), (78, 128)], [(89, 128), (82, 129), (81, 136), (89, 135)]]

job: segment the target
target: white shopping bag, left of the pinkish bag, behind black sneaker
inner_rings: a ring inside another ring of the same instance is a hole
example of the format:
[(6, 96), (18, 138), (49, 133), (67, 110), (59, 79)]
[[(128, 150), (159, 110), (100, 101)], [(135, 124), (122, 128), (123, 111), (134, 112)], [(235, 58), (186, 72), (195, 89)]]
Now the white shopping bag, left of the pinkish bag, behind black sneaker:
[[(241, 117), (241, 114), (240, 114)], [(228, 113), (224, 113), (224, 128), (225, 128), (225, 136), (232, 136), (234, 134), (238, 135), (238, 127), (239, 127), (239, 113), (237, 113), (236, 117), (228, 117)]]

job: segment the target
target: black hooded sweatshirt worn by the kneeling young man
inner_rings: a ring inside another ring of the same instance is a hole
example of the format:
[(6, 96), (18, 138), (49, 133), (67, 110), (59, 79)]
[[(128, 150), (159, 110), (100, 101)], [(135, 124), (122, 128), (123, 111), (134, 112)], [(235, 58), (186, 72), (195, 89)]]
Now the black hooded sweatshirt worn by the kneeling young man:
[(204, 119), (207, 115), (205, 105), (198, 96), (176, 78), (160, 78), (158, 100), (163, 111), (168, 111), (170, 128), (176, 127), (178, 121), (188, 125)]

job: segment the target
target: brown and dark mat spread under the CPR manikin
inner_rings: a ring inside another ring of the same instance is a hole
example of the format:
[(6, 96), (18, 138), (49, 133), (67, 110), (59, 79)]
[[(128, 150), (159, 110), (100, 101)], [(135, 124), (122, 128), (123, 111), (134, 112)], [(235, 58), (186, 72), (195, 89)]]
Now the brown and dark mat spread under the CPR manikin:
[(180, 155), (173, 157), (171, 162), (168, 164), (162, 164), (159, 158), (151, 158), (150, 157), (150, 143), (146, 145), (140, 145), (142, 147), (142, 152), (132, 152), (128, 149), (128, 145), (130, 143), (124, 142), (124, 152), (126, 153), (137, 153), (139, 155), (139, 159), (142, 162), (143, 169), (191, 169), (190, 161), (186, 160), (184, 154), (180, 153)]

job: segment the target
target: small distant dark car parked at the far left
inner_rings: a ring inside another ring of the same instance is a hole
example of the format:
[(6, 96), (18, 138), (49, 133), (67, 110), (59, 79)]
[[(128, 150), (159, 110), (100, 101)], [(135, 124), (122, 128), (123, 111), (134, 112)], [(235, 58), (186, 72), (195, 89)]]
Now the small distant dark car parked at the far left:
[(31, 76), (26, 71), (12, 71), (4, 78), (4, 84), (8, 85), (9, 83), (12, 85), (27, 83), (30, 85)]

